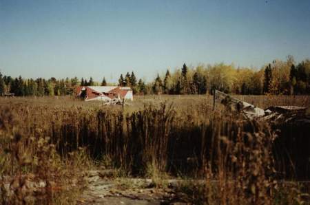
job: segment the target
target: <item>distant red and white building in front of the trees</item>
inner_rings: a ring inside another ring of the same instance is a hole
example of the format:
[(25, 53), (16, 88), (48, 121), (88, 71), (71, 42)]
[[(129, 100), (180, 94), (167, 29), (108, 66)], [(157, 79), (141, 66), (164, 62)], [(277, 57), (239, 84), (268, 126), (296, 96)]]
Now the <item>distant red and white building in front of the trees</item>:
[(118, 86), (81, 86), (76, 88), (77, 96), (90, 100), (113, 100), (115, 98), (134, 100), (134, 95), (130, 87)]

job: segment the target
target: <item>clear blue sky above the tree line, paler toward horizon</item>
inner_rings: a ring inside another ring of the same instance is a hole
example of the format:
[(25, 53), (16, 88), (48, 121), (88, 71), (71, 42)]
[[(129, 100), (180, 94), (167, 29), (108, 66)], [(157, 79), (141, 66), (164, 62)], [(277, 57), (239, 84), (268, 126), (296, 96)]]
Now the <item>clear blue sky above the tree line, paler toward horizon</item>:
[(310, 58), (309, 0), (0, 0), (0, 71), (152, 80), (183, 63)]

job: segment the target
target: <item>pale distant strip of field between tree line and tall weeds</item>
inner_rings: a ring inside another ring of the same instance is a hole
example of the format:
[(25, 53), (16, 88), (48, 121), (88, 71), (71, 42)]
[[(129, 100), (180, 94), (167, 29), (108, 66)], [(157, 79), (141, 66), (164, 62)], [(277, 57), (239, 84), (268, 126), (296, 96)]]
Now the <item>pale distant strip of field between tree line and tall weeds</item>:
[[(309, 107), (310, 96), (238, 96), (240, 100), (245, 100), (257, 107), (263, 109), (273, 105), (296, 105), (301, 107)], [(173, 102), (174, 107), (189, 107), (196, 105), (211, 105), (213, 106), (213, 96), (211, 95), (147, 95), (134, 96), (134, 101), (130, 102), (133, 106), (125, 107), (127, 110), (136, 110), (143, 108), (147, 104), (158, 104), (158, 102)], [(19, 104), (25, 105), (42, 105), (50, 107), (101, 107), (103, 102), (83, 100), (74, 98), (74, 96), (30, 96), (30, 97), (15, 97), (15, 98), (0, 98), (0, 105)], [(110, 109), (110, 107), (109, 107)]]

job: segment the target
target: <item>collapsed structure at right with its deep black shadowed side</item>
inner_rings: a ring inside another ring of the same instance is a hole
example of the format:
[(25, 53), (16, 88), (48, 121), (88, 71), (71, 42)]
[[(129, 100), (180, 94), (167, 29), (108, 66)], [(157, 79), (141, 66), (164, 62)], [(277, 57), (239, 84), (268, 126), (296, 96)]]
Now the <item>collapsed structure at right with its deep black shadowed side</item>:
[(262, 109), (215, 90), (214, 109), (218, 100), (226, 109), (236, 111), (248, 120), (269, 123), (278, 133), (278, 138), (273, 142), (273, 153), (279, 175), (298, 180), (310, 179), (309, 107), (276, 105)]

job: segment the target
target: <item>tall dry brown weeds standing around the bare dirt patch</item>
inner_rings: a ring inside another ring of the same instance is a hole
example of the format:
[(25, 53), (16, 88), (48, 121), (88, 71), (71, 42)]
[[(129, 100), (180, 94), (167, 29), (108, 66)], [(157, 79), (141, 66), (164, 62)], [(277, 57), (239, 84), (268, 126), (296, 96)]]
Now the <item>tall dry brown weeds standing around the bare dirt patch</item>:
[[(266, 99), (262, 107), (278, 101)], [(309, 102), (303, 99), (300, 104)], [(279, 189), (275, 128), (220, 106), (213, 111), (210, 96), (141, 97), (124, 109), (70, 98), (37, 100), (0, 100), (1, 184), (6, 178), (12, 189), (3, 202), (27, 200), (27, 180), (46, 184), (40, 195), (31, 194), (32, 200), (52, 202), (68, 190), (64, 184), (82, 183), (76, 173), (102, 159), (126, 175), (205, 179), (197, 197), (202, 204), (273, 204), (298, 196)]]

